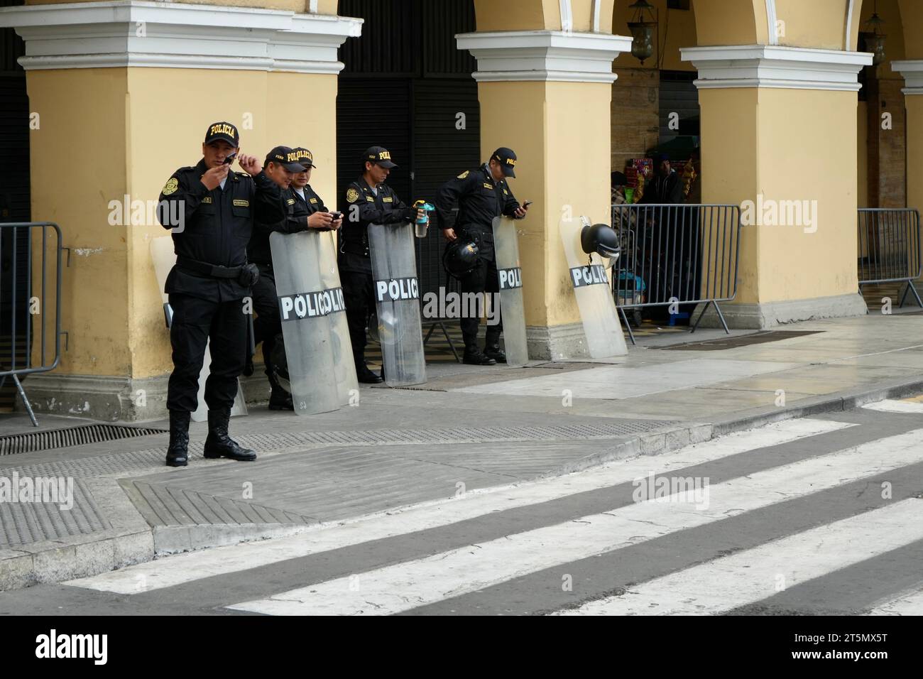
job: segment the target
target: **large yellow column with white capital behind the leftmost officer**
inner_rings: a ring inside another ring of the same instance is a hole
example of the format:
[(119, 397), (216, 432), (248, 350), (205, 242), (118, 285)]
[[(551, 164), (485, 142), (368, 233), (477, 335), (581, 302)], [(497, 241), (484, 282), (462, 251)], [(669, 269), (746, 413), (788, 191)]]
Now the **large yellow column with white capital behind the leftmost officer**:
[(177, 167), (198, 163), (209, 123), (234, 123), (241, 151), (258, 157), (278, 144), (310, 148), (312, 186), (335, 202), (337, 49), (361, 20), (258, 6), (86, 2), (0, 13), (26, 42), (39, 116), (32, 216), (60, 224), (70, 248), (69, 347), (57, 370), (26, 382), (37, 411), (165, 414), (172, 361), (150, 241), (169, 232), (152, 205)]

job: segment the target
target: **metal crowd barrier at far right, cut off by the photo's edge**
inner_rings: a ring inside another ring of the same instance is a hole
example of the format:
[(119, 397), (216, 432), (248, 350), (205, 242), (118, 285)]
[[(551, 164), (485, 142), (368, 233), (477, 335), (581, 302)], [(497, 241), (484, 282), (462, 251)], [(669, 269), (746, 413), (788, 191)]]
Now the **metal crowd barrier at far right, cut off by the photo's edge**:
[(859, 290), (862, 285), (906, 283), (900, 306), (912, 292), (923, 307), (914, 286), (923, 273), (920, 213), (912, 209), (860, 208), (858, 230)]

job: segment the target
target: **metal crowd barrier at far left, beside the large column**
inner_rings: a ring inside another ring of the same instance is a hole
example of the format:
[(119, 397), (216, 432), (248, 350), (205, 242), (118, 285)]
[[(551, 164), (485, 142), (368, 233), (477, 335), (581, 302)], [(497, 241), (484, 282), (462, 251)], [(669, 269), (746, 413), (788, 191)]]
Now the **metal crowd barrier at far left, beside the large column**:
[[(54, 234), (54, 243), (49, 244), (51, 234)], [(35, 257), (34, 249), (40, 250)], [(7, 377), (13, 378), (35, 427), (39, 423), (19, 376), (54, 370), (61, 361), (61, 252), (61, 229), (57, 224), (0, 224), (0, 261), (3, 262), (0, 274), (0, 387)], [(49, 284), (48, 268), (52, 258), (54, 283)], [(50, 293), (54, 294), (54, 299)], [(53, 356), (48, 346), (49, 304), (54, 309)], [(37, 343), (33, 333), (38, 333)], [(38, 346), (33, 346), (35, 344)]]

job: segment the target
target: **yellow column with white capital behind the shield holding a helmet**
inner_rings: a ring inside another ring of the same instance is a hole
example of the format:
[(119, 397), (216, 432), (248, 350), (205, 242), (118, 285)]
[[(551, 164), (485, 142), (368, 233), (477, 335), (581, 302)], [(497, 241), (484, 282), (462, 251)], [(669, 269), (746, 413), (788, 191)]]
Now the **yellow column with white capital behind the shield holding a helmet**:
[[(480, 14), (478, 15), (480, 18)], [(532, 358), (581, 356), (583, 330), (559, 233), (562, 217), (608, 223), (612, 60), (630, 39), (558, 30), (458, 36), (478, 59), (481, 151), (516, 152), (526, 332)]]

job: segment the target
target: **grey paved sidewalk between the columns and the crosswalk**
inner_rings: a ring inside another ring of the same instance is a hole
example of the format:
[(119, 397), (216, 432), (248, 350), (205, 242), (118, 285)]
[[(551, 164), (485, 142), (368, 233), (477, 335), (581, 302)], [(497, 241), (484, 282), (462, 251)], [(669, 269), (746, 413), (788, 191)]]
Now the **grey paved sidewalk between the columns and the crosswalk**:
[[(234, 437), (260, 453), (252, 464), (204, 460), (204, 423), (192, 426), (193, 455), (182, 469), (163, 467), (165, 433), (2, 455), (0, 478), (74, 479), (74, 506), (0, 503), (0, 588), (444, 501), (923, 391), (923, 315), (779, 332), (677, 333), (599, 362), (433, 365), (426, 385), (363, 388), (358, 406), (309, 418), (252, 406), (232, 421)], [(41, 416), (40, 424), (88, 422)], [(0, 419), (0, 436), (30, 430), (24, 416)]]

